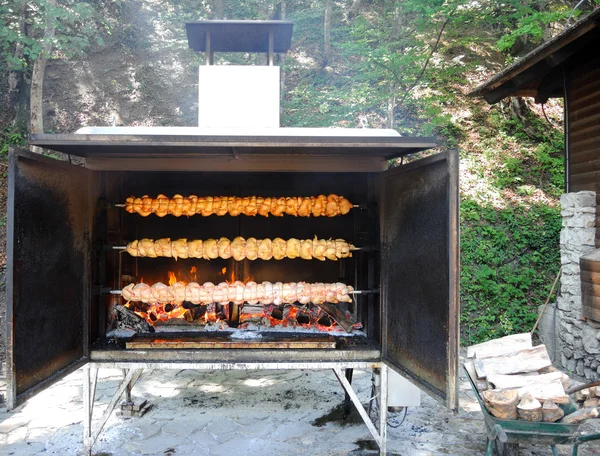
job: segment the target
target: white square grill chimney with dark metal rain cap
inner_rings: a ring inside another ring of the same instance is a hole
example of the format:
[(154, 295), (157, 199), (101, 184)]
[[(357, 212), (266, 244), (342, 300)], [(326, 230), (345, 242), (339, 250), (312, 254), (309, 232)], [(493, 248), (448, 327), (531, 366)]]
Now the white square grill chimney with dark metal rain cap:
[[(276, 52), (287, 52), (288, 21), (194, 21), (185, 24), (188, 45), (204, 52), (198, 76), (198, 126), (279, 128), (280, 69)], [(265, 66), (213, 65), (215, 52), (260, 52)]]

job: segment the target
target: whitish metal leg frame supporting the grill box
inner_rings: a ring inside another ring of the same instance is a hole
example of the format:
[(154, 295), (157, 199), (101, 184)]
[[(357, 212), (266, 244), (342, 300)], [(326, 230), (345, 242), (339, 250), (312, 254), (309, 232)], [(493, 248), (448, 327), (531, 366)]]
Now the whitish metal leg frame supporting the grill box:
[[(94, 400), (96, 395), (96, 384), (98, 381), (98, 369), (101, 367), (105, 368), (117, 368), (123, 370), (123, 380), (113, 398), (111, 399), (108, 407), (105, 409), (104, 414), (93, 428), (93, 412), (94, 412)], [(347, 396), (350, 398), (352, 403), (355, 405), (358, 413), (363, 419), (365, 425), (369, 429), (369, 432), (375, 439), (375, 442), (379, 446), (380, 456), (386, 454), (386, 438), (387, 438), (387, 375), (388, 367), (382, 362), (367, 362), (367, 361), (350, 361), (350, 362), (267, 362), (267, 363), (194, 363), (194, 362), (90, 362), (83, 368), (84, 379), (83, 379), (83, 446), (84, 454), (91, 456), (92, 446), (98, 439), (98, 436), (104, 429), (108, 418), (115, 409), (119, 399), (126, 395), (127, 401), (131, 401), (131, 389), (135, 383), (139, 380), (142, 372), (145, 368), (150, 369), (196, 369), (196, 370), (293, 370), (293, 369), (314, 369), (324, 370), (331, 369), (337, 377), (338, 381), (344, 388)], [(378, 427), (373, 424), (368, 413), (365, 411), (360, 399), (356, 392), (352, 388), (352, 385), (346, 378), (346, 372), (348, 369), (378, 369), (381, 375), (380, 391), (379, 391), (379, 423)]]

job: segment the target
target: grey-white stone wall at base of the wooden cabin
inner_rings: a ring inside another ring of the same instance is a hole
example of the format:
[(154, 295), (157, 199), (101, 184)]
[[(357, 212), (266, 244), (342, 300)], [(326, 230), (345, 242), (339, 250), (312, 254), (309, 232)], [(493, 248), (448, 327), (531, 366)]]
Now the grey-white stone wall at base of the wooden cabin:
[(595, 381), (600, 379), (600, 324), (581, 319), (579, 258), (596, 248), (596, 193), (567, 193), (560, 198), (560, 205), (562, 276), (553, 322), (557, 342), (555, 364)]

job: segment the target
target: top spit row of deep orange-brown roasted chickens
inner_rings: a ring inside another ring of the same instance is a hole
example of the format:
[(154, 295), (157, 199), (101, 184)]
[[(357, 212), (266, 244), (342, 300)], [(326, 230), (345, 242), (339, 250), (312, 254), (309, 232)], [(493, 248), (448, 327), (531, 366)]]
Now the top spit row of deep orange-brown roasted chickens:
[(125, 210), (129, 213), (137, 212), (143, 217), (156, 214), (164, 217), (167, 214), (181, 217), (186, 215), (223, 216), (240, 214), (268, 217), (282, 217), (284, 214), (295, 217), (335, 217), (345, 215), (352, 209), (352, 203), (343, 196), (293, 196), (293, 197), (262, 197), (262, 196), (182, 196), (175, 195), (168, 198), (158, 195), (151, 198), (144, 195), (141, 198), (130, 196), (125, 200)]

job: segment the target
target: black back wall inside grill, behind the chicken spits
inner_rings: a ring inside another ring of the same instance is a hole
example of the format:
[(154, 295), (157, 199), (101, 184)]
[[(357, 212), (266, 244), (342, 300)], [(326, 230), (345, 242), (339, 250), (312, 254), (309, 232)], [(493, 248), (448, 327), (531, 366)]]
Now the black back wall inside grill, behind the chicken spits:
[[(318, 166), (318, 163), (316, 163)], [(203, 173), (203, 172), (104, 172), (107, 201), (123, 202), (130, 195), (163, 193), (168, 197), (179, 193), (187, 196), (316, 196), (335, 193), (348, 198), (354, 204), (369, 204), (369, 210), (353, 209), (339, 217), (283, 217), (268, 218), (240, 215), (218, 217), (158, 217), (151, 214), (142, 217), (126, 213), (123, 209), (104, 210), (105, 216), (97, 217), (97, 241), (107, 245), (124, 245), (127, 241), (141, 238), (159, 239), (207, 239), (236, 236), (283, 239), (342, 238), (357, 246), (378, 246), (377, 226), (377, 175), (368, 173)], [(99, 211), (101, 213), (102, 211)], [(356, 289), (373, 289), (379, 286), (378, 252), (354, 252), (353, 258), (341, 261), (245, 260), (255, 282), (336, 282), (341, 281)], [(221, 270), (230, 268), (233, 260), (172, 258), (133, 258), (128, 254), (108, 251), (104, 260), (98, 261), (95, 280), (104, 276), (102, 285), (120, 288), (117, 277), (118, 262), (122, 273), (143, 277), (144, 282), (167, 283), (167, 271), (189, 271), (197, 267), (197, 282), (223, 282)], [(238, 271), (243, 269), (237, 268)], [(185, 278), (185, 277), (184, 277)], [(239, 278), (239, 277), (238, 277)], [(241, 277), (240, 279), (243, 279)], [(110, 302), (113, 297), (103, 297), (104, 311), (99, 309), (97, 328), (99, 336), (105, 334)], [(379, 297), (355, 296), (355, 317), (364, 325), (370, 338), (379, 338)], [(352, 307), (351, 307), (352, 310)]]

